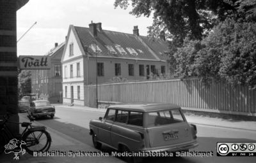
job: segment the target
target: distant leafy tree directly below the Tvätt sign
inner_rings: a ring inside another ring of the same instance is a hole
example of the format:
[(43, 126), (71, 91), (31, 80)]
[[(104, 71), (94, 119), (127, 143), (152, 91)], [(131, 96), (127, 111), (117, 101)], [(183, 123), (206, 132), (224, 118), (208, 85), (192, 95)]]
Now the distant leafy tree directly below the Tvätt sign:
[(31, 93), (31, 71), (22, 70), (19, 74), (19, 94), (23, 96), (24, 94)]

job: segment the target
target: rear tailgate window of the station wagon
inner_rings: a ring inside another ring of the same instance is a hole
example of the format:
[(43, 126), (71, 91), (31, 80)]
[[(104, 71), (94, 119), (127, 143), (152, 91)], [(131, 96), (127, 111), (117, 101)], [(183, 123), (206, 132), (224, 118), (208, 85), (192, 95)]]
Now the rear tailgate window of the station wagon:
[(148, 127), (184, 122), (179, 109), (152, 111), (147, 114)]

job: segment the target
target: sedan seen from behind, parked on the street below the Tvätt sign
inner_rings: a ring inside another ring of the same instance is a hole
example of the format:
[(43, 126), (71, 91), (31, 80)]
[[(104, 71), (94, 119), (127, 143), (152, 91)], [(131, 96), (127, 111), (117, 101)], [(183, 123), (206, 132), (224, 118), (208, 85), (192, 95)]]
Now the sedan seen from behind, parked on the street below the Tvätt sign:
[(53, 118), (55, 115), (55, 108), (51, 106), (47, 100), (35, 100), (30, 103), (28, 115), (38, 118), (47, 117), (48, 115)]

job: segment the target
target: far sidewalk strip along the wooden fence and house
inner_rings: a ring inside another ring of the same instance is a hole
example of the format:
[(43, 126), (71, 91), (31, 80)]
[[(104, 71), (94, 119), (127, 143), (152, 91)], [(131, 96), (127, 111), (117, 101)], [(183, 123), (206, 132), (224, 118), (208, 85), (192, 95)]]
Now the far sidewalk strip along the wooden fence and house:
[[(106, 109), (97, 109), (97, 108), (90, 108), (88, 106), (67, 106), (67, 105), (58, 105), (56, 107), (63, 107), (63, 108), (72, 108), (76, 110), (86, 110), (86, 111), (97, 111), (97, 112), (106, 112)], [(208, 125), (212, 127), (225, 127), (230, 129), (241, 129), (247, 131), (255, 131), (256, 132), (256, 121), (245, 121), (245, 120), (232, 120), (232, 119), (225, 119), (225, 118), (211, 118), (211, 117), (204, 117), (199, 115), (193, 114), (186, 114), (186, 119), (191, 124), (196, 125)]]

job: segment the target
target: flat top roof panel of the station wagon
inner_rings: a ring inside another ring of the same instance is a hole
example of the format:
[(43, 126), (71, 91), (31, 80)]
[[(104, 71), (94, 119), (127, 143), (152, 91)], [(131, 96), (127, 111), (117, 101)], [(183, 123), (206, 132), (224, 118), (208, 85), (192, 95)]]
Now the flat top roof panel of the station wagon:
[(169, 103), (120, 103), (109, 106), (109, 108), (125, 109), (130, 111), (156, 111), (156, 110), (170, 110), (180, 108), (176, 104)]

